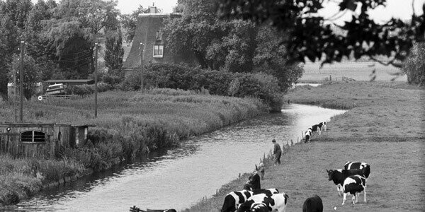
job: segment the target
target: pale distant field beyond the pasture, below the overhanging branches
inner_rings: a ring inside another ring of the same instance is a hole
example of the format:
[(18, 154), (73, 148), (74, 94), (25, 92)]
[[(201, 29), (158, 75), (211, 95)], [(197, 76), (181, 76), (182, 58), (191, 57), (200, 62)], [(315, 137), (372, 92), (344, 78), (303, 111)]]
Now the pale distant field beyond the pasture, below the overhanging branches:
[(343, 76), (353, 78), (356, 81), (370, 81), (371, 73), (375, 70), (375, 81), (407, 81), (407, 76), (396, 78), (394, 73), (399, 73), (400, 69), (394, 66), (384, 66), (373, 61), (345, 61), (343, 63), (325, 64), (320, 69), (319, 63), (307, 62), (304, 65), (304, 74), (298, 81), (317, 81), (331, 76), (333, 81), (341, 81)]

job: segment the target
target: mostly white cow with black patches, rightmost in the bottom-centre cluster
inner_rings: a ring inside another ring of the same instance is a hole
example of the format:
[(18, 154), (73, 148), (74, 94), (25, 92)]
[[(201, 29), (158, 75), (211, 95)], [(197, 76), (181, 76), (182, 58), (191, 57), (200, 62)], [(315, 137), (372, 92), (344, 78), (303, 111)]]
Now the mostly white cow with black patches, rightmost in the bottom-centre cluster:
[(255, 211), (256, 206), (259, 207), (259, 210), (263, 210), (263, 207), (259, 206), (259, 204), (265, 204), (268, 208), (268, 211), (278, 211), (285, 212), (286, 204), (288, 204), (289, 196), (285, 193), (281, 194), (257, 194), (249, 197), (248, 200), (244, 202), (244, 204), (239, 205), (237, 212), (248, 212)]

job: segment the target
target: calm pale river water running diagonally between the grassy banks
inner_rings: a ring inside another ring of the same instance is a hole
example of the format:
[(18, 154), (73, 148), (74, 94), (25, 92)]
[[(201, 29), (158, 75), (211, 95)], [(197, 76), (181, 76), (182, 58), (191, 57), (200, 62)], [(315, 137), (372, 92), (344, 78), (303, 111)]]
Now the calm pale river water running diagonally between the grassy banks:
[(151, 153), (131, 164), (40, 192), (18, 207), (23, 211), (128, 211), (134, 205), (188, 208), (203, 196), (215, 194), (239, 173), (254, 170), (254, 164), (273, 146), (272, 139), (281, 144), (297, 141), (302, 130), (343, 112), (285, 105), (282, 113), (188, 139), (179, 148)]

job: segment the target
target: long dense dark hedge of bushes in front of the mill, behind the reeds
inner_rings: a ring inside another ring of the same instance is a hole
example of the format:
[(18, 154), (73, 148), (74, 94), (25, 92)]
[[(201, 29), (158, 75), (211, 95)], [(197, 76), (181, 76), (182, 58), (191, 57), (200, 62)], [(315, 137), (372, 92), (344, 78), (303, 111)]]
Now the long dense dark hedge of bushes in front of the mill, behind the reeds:
[[(177, 64), (150, 64), (145, 68), (147, 88), (200, 90), (210, 95), (254, 97), (268, 105), (272, 112), (280, 111), (283, 103), (278, 80), (266, 73), (230, 73)], [(140, 72), (132, 73), (126, 78), (121, 88), (123, 90), (140, 89)]]

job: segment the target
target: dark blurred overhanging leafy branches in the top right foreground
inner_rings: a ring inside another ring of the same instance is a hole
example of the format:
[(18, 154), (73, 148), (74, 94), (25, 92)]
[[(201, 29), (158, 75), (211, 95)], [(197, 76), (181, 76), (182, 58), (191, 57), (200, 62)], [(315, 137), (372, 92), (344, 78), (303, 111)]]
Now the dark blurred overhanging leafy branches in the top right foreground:
[[(344, 34), (335, 33), (327, 19), (319, 16), (326, 0), (220, 0), (222, 18), (239, 18), (254, 23), (268, 23), (288, 33), (282, 44), (287, 47), (288, 61), (322, 61), (331, 63), (343, 57), (360, 59), (369, 57), (381, 64), (402, 66), (413, 42), (424, 40), (425, 14), (412, 15), (410, 23), (392, 18), (377, 23), (369, 11), (385, 6), (385, 0), (343, 0), (339, 11), (354, 13), (351, 21), (338, 27)], [(425, 11), (425, 4), (423, 6)], [(389, 57), (380, 61), (379, 56)]]

